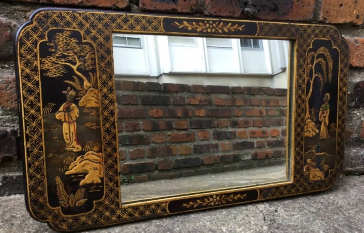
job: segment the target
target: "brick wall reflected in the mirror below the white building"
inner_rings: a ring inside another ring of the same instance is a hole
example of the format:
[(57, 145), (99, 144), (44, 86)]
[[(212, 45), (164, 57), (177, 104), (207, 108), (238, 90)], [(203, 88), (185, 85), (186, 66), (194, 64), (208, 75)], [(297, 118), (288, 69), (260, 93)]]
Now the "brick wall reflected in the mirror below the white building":
[(124, 175), (146, 181), (285, 163), (286, 89), (130, 81), (116, 89)]

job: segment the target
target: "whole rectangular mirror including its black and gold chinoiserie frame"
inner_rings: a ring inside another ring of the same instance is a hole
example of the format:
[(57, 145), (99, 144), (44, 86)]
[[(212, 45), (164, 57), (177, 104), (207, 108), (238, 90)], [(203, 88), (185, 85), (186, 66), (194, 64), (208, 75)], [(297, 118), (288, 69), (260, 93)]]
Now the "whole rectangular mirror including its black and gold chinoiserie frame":
[(70, 232), (330, 188), (331, 25), (39, 9), (16, 35), (25, 203)]

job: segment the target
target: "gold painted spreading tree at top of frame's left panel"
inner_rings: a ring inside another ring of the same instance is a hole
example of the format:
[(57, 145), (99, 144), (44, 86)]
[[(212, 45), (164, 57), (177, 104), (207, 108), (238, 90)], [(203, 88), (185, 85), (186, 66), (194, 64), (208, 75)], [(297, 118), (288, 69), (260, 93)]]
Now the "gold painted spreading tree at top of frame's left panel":
[(54, 53), (40, 59), (40, 68), (47, 71), (44, 75), (58, 78), (67, 73), (67, 66), (71, 67), (74, 74), (83, 80), (83, 91), (86, 93), (92, 85), (80, 71), (95, 68), (95, 51), (89, 44), (79, 43), (71, 36), (72, 31), (56, 33), (54, 40), (47, 43), (51, 47), (49, 51)]

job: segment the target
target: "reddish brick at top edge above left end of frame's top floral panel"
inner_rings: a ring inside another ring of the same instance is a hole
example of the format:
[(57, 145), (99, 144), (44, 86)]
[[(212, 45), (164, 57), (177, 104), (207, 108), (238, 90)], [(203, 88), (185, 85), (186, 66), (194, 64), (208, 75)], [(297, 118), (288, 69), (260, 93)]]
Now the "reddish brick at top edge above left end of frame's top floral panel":
[(179, 13), (195, 13), (197, 8), (197, 0), (175, 1), (175, 0), (140, 0), (139, 9), (141, 11), (157, 11), (157, 12), (179, 12)]

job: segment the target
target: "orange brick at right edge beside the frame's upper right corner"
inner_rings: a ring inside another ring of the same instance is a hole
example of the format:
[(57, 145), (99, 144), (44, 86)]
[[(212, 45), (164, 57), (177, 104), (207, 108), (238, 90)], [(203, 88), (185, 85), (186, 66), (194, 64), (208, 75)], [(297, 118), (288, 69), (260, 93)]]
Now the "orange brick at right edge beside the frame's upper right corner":
[[(363, 2), (364, 3), (364, 2)], [(364, 38), (362, 37), (346, 37), (349, 46), (349, 63), (351, 67), (364, 67)], [(363, 85), (364, 82), (358, 82), (360, 86)], [(354, 93), (357, 85), (354, 86)], [(356, 96), (356, 95), (355, 95)], [(362, 101), (361, 103), (363, 103)]]

